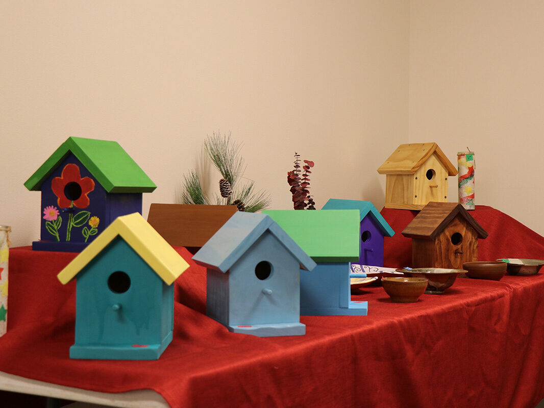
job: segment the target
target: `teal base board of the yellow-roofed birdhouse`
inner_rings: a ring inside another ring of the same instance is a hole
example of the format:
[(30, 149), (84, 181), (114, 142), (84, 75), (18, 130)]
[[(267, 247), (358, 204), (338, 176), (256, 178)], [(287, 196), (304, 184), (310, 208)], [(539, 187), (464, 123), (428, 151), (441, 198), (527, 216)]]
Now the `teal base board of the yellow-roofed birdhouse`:
[(172, 341), (172, 332), (160, 344), (74, 344), (70, 358), (82, 360), (158, 360)]

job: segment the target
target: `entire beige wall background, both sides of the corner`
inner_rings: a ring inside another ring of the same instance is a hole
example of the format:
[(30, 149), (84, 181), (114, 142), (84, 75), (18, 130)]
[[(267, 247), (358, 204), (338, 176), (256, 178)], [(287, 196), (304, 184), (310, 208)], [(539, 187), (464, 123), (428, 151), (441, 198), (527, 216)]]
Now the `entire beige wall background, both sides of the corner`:
[[(540, 1), (5, 2), (0, 224), (38, 237), (22, 183), (68, 136), (118, 140), (176, 202), (202, 141), (232, 132), (246, 176), (290, 208), (296, 150), (329, 197), (381, 207), (406, 141), (477, 157), (477, 203), (544, 234)], [(208, 182), (213, 186), (217, 176)], [(456, 196), (450, 178), (449, 196)]]

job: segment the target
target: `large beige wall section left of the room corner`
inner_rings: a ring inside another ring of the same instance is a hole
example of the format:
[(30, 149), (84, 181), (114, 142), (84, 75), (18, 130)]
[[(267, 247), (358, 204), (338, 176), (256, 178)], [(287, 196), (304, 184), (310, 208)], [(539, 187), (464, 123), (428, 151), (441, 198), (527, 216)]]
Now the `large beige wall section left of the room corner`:
[(119, 141), (159, 186), (144, 215), (218, 130), (274, 208), (292, 208), (294, 151), (316, 162), (318, 208), (381, 208), (376, 168), (408, 137), (409, 21), (407, 0), (3, 2), (0, 224), (39, 237), (23, 182), (69, 136)]

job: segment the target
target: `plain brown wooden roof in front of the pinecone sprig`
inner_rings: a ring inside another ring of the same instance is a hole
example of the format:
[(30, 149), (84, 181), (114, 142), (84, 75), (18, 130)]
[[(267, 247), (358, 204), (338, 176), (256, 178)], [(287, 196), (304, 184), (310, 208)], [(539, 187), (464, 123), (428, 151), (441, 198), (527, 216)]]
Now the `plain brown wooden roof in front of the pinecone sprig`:
[(177, 246), (203, 246), (234, 213), (236, 206), (153, 203), (147, 222)]

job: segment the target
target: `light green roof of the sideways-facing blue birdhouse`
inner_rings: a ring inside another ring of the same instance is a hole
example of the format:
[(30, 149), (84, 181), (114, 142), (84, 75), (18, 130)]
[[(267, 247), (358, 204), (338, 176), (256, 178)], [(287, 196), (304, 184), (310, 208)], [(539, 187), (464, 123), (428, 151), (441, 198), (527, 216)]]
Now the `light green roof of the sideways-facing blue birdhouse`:
[(315, 262), (359, 259), (360, 215), (356, 209), (265, 210)]

